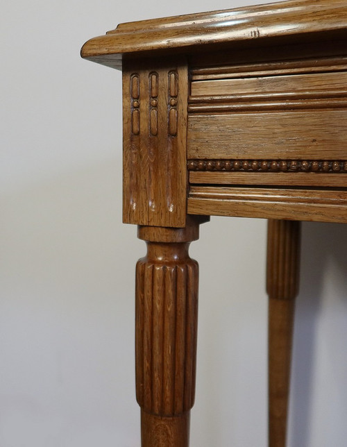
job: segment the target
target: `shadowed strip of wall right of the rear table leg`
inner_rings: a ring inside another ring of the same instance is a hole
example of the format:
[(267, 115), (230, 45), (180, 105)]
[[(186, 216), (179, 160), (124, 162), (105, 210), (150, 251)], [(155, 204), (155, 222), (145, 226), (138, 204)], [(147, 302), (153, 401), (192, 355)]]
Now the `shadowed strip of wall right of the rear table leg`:
[[(325, 446), (330, 444), (329, 433), (339, 437), (334, 446), (345, 445), (346, 423), (342, 421), (347, 416), (347, 387), (341, 384), (347, 373), (346, 246), (347, 226), (303, 223), (289, 404), (290, 446)], [(331, 278), (330, 284), (327, 278)], [(323, 436), (314, 441), (312, 427), (320, 421)]]

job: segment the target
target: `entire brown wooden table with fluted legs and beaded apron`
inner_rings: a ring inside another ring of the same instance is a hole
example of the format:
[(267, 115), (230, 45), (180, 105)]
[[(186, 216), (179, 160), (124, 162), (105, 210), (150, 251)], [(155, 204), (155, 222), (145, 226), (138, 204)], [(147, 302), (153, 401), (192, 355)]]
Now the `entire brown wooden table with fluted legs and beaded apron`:
[(139, 226), (142, 446), (189, 444), (210, 215), (269, 219), (269, 445), (284, 447), (300, 221), (347, 222), (347, 3), (121, 24), (82, 57), (123, 71), (124, 222)]

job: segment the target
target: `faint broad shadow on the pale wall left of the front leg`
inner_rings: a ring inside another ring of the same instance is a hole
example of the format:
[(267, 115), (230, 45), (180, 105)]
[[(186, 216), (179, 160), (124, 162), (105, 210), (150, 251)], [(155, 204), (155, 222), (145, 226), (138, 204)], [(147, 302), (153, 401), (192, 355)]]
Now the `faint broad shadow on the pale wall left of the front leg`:
[(1, 447), (139, 444), (129, 346), (146, 249), (121, 224), (120, 167), (1, 196)]

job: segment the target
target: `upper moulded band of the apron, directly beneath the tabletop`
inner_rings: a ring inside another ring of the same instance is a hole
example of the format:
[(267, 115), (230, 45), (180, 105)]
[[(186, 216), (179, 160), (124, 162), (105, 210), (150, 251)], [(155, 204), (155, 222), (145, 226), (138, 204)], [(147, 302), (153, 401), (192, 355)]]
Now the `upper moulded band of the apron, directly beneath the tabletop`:
[(347, 107), (346, 58), (191, 70), (190, 113)]

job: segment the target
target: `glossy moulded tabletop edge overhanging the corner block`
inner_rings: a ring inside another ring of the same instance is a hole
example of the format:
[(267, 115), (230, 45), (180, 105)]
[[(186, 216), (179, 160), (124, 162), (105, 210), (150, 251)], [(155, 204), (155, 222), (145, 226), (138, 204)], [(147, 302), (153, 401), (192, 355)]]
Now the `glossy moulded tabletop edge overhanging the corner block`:
[(291, 0), (121, 24), (106, 35), (86, 42), (81, 56), (121, 68), (122, 56), (128, 54), (148, 55), (183, 49), (194, 52), (212, 45), (217, 49), (226, 43), (247, 41), (257, 45), (269, 38), (307, 40), (313, 33), (316, 38), (319, 33), (341, 33), (346, 25), (344, 0)]

